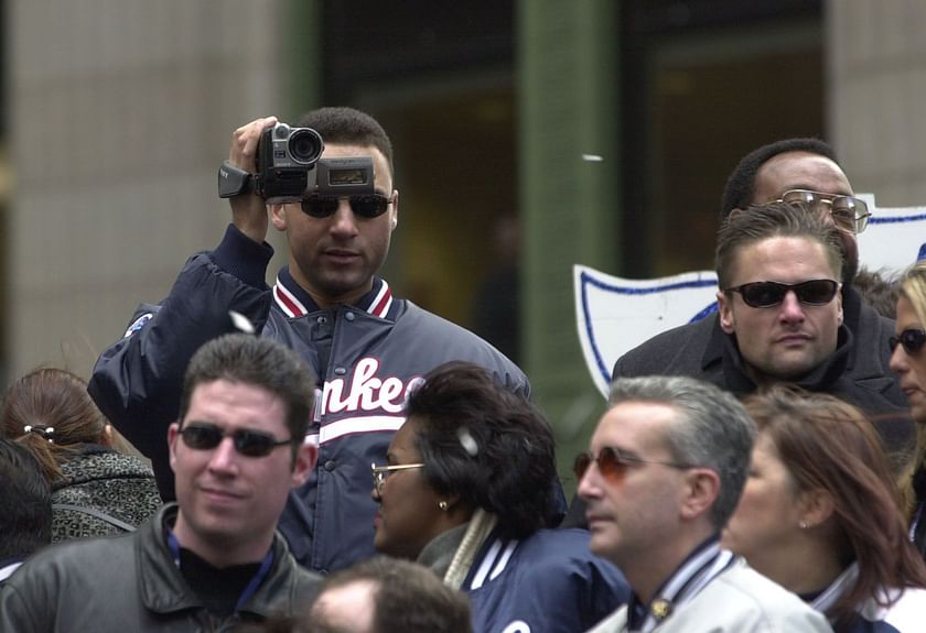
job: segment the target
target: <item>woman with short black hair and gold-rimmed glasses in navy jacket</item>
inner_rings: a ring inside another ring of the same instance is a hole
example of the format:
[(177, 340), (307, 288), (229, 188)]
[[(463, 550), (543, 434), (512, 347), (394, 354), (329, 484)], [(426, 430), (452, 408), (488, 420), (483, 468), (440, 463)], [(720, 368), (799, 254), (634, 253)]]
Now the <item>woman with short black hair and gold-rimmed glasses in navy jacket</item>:
[(411, 393), (373, 468), (376, 548), (467, 592), (473, 630), (585, 631), (629, 594), (584, 530), (556, 515), (549, 425), (483, 369), (449, 363)]

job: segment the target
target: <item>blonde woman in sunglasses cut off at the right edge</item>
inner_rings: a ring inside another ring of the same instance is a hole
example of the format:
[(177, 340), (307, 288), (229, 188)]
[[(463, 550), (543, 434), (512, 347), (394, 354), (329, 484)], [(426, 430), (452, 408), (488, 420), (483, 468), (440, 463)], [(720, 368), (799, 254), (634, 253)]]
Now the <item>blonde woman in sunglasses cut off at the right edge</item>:
[(891, 369), (901, 381), (916, 421), (916, 448), (902, 477), (909, 535), (926, 558), (926, 262), (918, 262), (900, 280), (896, 336), (891, 337)]

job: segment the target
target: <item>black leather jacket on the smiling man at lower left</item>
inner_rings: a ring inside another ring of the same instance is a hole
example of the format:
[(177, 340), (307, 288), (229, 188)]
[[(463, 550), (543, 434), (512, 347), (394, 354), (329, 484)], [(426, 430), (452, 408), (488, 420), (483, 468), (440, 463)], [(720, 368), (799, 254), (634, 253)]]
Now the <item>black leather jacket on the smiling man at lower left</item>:
[(272, 613), (298, 614), (317, 593), (320, 577), (297, 565), (277, 535), (273, 566), (250, 599), (227, 619), (211, 615), (165, 542), (164, 524), (175, 515), (168, 504), (131, 534), (40, 552), (0, 591), (0, 631), (229, 631)]

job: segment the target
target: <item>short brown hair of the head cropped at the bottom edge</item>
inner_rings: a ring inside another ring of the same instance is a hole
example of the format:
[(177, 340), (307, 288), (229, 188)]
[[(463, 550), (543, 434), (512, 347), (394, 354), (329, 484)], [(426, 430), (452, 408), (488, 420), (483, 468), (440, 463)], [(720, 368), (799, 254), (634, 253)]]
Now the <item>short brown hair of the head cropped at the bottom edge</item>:
[[(410, 560), (375, 556), (329, 576), (319, 596), (329, 589), (363, 581), (376, 587), (372, 633), (471, 633), (473, 630), (466, 594), (446, 587), (433, 571)], [(349, 633), (317, 620), (310, 615), (304, 630)]]

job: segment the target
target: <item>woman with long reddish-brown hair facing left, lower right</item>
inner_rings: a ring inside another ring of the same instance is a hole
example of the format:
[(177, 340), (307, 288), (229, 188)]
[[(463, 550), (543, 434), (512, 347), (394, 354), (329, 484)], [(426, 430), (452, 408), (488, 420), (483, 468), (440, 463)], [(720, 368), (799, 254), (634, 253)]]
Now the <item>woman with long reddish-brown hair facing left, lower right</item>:
[(873, 425), (831, 395), (775, 386), (723, 544), (826, 613), (837, 633), (923, 630), (926, 566)]

